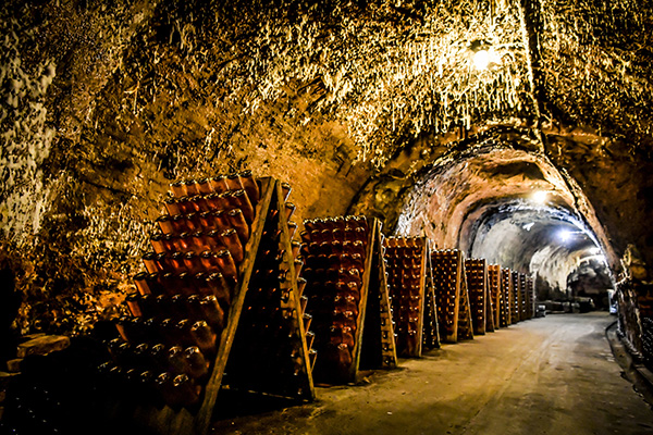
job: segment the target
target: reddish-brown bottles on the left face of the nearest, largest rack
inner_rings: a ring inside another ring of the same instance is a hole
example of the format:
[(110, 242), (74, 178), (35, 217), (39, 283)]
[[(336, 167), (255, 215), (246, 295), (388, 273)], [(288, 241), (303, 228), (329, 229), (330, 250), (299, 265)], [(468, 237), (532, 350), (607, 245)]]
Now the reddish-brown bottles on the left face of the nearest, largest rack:
[(200, 402), (235, 291), (259, 185), (249, 171), (176, 182), (102, 370), (172, 408)]

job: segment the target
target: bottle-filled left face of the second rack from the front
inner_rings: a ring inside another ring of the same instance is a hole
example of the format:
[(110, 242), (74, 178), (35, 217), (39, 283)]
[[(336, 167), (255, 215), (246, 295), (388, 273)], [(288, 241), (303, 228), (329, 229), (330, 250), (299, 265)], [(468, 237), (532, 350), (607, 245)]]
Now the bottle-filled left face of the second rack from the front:
[(303, 277), (320, 358), (316, 377), (348, 380), (356, 360), (370, 227), (365, 216), (308, 220)]

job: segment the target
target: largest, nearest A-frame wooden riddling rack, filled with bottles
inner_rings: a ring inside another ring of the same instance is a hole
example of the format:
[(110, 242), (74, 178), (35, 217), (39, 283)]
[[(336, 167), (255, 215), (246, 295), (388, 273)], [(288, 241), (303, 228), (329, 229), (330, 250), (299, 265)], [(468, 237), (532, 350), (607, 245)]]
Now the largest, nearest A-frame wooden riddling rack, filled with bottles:
[(172, 185), (101, 368), (136, 391), (116, 396), (111, 420), (204, 435), (221, 387), (315, 398), (289, 190), (248, 171)]

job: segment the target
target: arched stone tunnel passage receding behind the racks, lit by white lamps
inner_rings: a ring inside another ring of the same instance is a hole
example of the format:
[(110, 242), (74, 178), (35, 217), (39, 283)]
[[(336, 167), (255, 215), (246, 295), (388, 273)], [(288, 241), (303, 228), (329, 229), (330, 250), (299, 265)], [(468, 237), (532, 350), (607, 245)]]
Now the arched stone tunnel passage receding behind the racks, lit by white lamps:
[(494, 141), (470, 149), (416, 177), (396, 234), (530, 273), (540, 300), (591, 297), (605, 308), (611, 248), (593, 211), (578, 207), (582, 192), (537, 152)]

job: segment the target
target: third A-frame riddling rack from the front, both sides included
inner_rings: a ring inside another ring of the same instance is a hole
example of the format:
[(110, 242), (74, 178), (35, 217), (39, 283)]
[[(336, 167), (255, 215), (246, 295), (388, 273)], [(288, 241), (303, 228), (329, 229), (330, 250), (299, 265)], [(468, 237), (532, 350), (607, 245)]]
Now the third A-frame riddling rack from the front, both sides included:
[(440, 344), (428, 240), (389, 237), (383, 245), (397, 355), (421, 357)]

